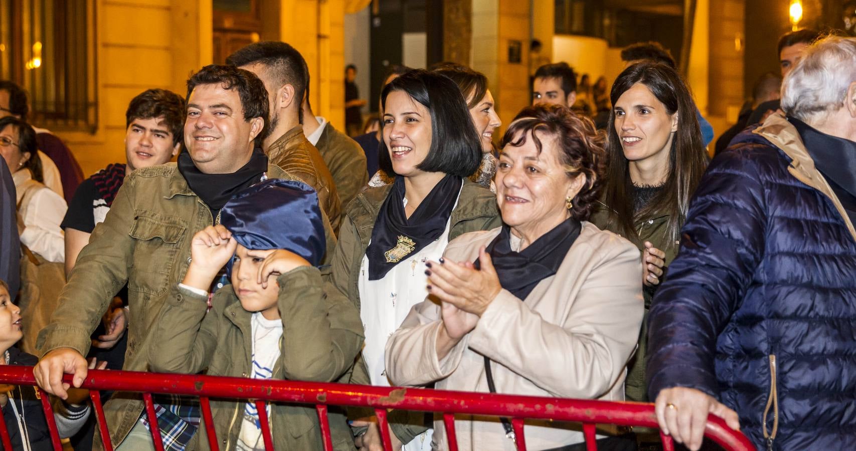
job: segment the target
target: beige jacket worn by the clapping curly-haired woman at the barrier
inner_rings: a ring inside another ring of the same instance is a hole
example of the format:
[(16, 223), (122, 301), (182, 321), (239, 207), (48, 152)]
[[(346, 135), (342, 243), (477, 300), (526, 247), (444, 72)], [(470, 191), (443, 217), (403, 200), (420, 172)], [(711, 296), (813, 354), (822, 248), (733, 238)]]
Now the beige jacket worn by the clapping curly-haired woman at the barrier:
[[(473, 261), (499, 232), (463, 234), (444, 255)], [(387, 341), (387, 376), (396, 385), (436, 381), (437, 389), (488, 392), (484, 355), (492, 360), (498, 393), (623, 401), (625, 365), (644, 308), (641, 271), (636, 246), (583, 223), (556, 275), (539, 282), (524, 301), (502, 289), (444, 359), (437, 359), (436, 350), (440, 306), (431, 298), (413, 306)], [(455, 427), (460, 449), (514, 449), (496, 418), (459, 415)], [(525, 433), (527, 448), (535, 450), (584, 440), (579, 427), (543, 421), (527, 422)], [(448, 449), (445, 439), (438, 422), (434, 448)]]

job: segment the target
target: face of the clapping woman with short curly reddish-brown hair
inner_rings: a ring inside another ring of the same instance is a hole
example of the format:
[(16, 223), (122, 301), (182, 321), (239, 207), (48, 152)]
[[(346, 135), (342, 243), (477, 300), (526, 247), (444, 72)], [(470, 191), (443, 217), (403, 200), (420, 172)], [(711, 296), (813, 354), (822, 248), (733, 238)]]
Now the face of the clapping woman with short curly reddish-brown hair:
[[(541, 151), (538, 152), (532, 134), (526, 136), (520, 147), (506, 145), (499, 157), (495, 179), (502, 221), (532, 239), (568, 219), (566, 199), (573, 199), (586, 181), (585, 175), (568, 177), (559, 159), (561, 150), (555, 137), (535, 133), (541, 140)], [(511, 141), (519, 138), (515, 136)]]

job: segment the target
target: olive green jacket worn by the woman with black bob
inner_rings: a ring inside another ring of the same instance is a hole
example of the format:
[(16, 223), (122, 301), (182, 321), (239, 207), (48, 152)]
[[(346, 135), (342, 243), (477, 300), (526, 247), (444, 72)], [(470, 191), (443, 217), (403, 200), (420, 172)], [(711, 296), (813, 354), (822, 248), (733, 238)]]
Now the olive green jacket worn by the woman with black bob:
[[(339, 243), (333, 255), (330, 280), (324, 285), (324, 293), (332, 300), (347, 298), (360, 310), (360, 264), (366, 248), (372, 240), (377, 214), (389, 195), (392, 185), (372, 187), (357, 195), (342, 215)], [(449, 217), (449, 241), (461, 234), (478, 230), (490, 230), (502, 225), (502, 217), (496, 209), (496, 196), (490, 190), (467, 179), (461, 187), (458, 204)], [(372, 385), (366, 362), (362, 354), (354, 365), (349, 383)], [(372, 412), (349, 413), (358, 418)], [(413, 440), (427, 430), (425, 414), (421, 412), (393, 411), (389, 415), (390, 427), (402, 443)]]

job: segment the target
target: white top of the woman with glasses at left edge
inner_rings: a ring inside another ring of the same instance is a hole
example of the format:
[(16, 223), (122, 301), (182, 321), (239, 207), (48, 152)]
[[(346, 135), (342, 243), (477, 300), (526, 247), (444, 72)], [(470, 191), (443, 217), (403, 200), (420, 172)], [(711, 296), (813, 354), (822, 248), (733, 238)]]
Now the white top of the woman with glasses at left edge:
[[(29, 169), (15, 171), (12, 175), (17, 195), (15, 202), (21, 202), (26, 191), (21, 187), (31, 179)], [(35, 192), (30, 195), (27, 205), (21, 205), (21, 210), (18, 211), (25, 227), (24, 233), (21, 234), (21, 244), (49, 262), (63, 263), (65, 262), (65, 234), (62, 233), (60, 224), (65, 217), (65, 211), (68, 210), (65, 199), (44, 186), (30, 189)]]

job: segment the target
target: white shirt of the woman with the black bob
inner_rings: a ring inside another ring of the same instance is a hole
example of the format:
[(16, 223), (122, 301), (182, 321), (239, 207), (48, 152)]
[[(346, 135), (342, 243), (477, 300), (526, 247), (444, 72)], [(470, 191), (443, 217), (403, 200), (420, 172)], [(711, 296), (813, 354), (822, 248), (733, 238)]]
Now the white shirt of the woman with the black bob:
[[(458, 192), (461, 196), (461, 192)], [(404, 199), (407, 205), (407, 198)], [(457, 206), (457, 201), (455, 201)], [(411, 307), (419, 304), (428, 296), (428, 276), (425, 276), (425, 262), (437, 261), (443, 257), (443, 251), (449, 244), (451, 217), (446, 230), (433, 243), (423, 247), (402, 259), (376, 281), (369, 280), (368, 256), (363, 256), (360, 265), (360, 317), (366, 333), (363, 346), (363, 359), (369, 369), (372, 385), (389, 387), (383, 350), (389, 335), (401, 326)], [(430, 451), (431, 436), (434, 430), (427, 430), (404, 445), (402, 451)]]

